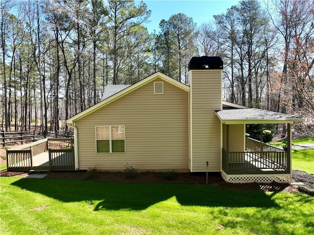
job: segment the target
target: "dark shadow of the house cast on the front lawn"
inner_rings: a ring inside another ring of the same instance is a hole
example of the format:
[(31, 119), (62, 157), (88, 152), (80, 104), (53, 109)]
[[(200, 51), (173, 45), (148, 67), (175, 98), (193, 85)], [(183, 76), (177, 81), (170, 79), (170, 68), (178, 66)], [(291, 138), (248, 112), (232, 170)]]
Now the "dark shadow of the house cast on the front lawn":
[(20, 179), (12, 185), (62, 202), (95, 205), (94, 210), (142, 210), (176, 197), (186, 206), (279, 207), (262, 190), (233, 190), (217, 185), (171, 183), (99, 183), (66, 179)]

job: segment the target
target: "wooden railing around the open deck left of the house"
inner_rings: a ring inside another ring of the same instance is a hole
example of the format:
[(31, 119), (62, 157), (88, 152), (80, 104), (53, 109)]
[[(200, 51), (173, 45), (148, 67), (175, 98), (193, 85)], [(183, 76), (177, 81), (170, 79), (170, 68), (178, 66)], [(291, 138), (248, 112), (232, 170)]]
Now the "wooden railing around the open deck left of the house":
[[(34, 165), (34, 157), (47, 152), (47, 166)], [(8, 171), (31, 169), (74, 170), (73, 138), (46, 138), (6, 151)]]

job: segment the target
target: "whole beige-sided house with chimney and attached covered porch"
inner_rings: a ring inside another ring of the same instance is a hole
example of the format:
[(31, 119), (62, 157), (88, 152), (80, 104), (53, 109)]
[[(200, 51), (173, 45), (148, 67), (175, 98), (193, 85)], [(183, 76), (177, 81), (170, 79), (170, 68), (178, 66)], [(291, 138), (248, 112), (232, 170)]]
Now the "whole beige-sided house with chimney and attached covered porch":
[[(187, 86), (157, 72), (107, 86), (67, 120), (75, 169), (221, 172), (233, 183), (291, 181), (291, 128), (303, 119), (222, 101), (220, 57), (192, 57)], [(247, 138), (247, 124), (288, 126), (288, 151)]]

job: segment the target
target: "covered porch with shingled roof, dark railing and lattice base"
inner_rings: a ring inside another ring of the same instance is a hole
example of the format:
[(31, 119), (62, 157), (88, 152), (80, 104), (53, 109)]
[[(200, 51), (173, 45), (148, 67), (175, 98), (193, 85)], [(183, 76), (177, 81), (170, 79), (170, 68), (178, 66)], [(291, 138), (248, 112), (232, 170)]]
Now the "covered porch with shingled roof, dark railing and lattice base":
[[(291, 131), (302, 118), (256, 108), (216, 112), (222, 124), (222, 177), (231, 183), (289, 183), (292, 180)], [(261, 139), (246, 136), (246, 125), (260, 124)], [(287, 148), (263, 143), (263, 124), (287, 125)]]

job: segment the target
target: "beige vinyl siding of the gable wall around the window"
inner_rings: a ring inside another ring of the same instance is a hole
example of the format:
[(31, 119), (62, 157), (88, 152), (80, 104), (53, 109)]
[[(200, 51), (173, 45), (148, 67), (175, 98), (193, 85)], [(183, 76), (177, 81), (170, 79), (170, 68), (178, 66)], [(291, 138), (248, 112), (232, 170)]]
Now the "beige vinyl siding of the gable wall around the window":
[[(164, 82), (154, 95), (154, 82)], [(126, 153), (96, 153), (95, 126), (125, 126)], [(79, 169), (188, 171), (188, 92), (157, 78), (76, 122)]]

